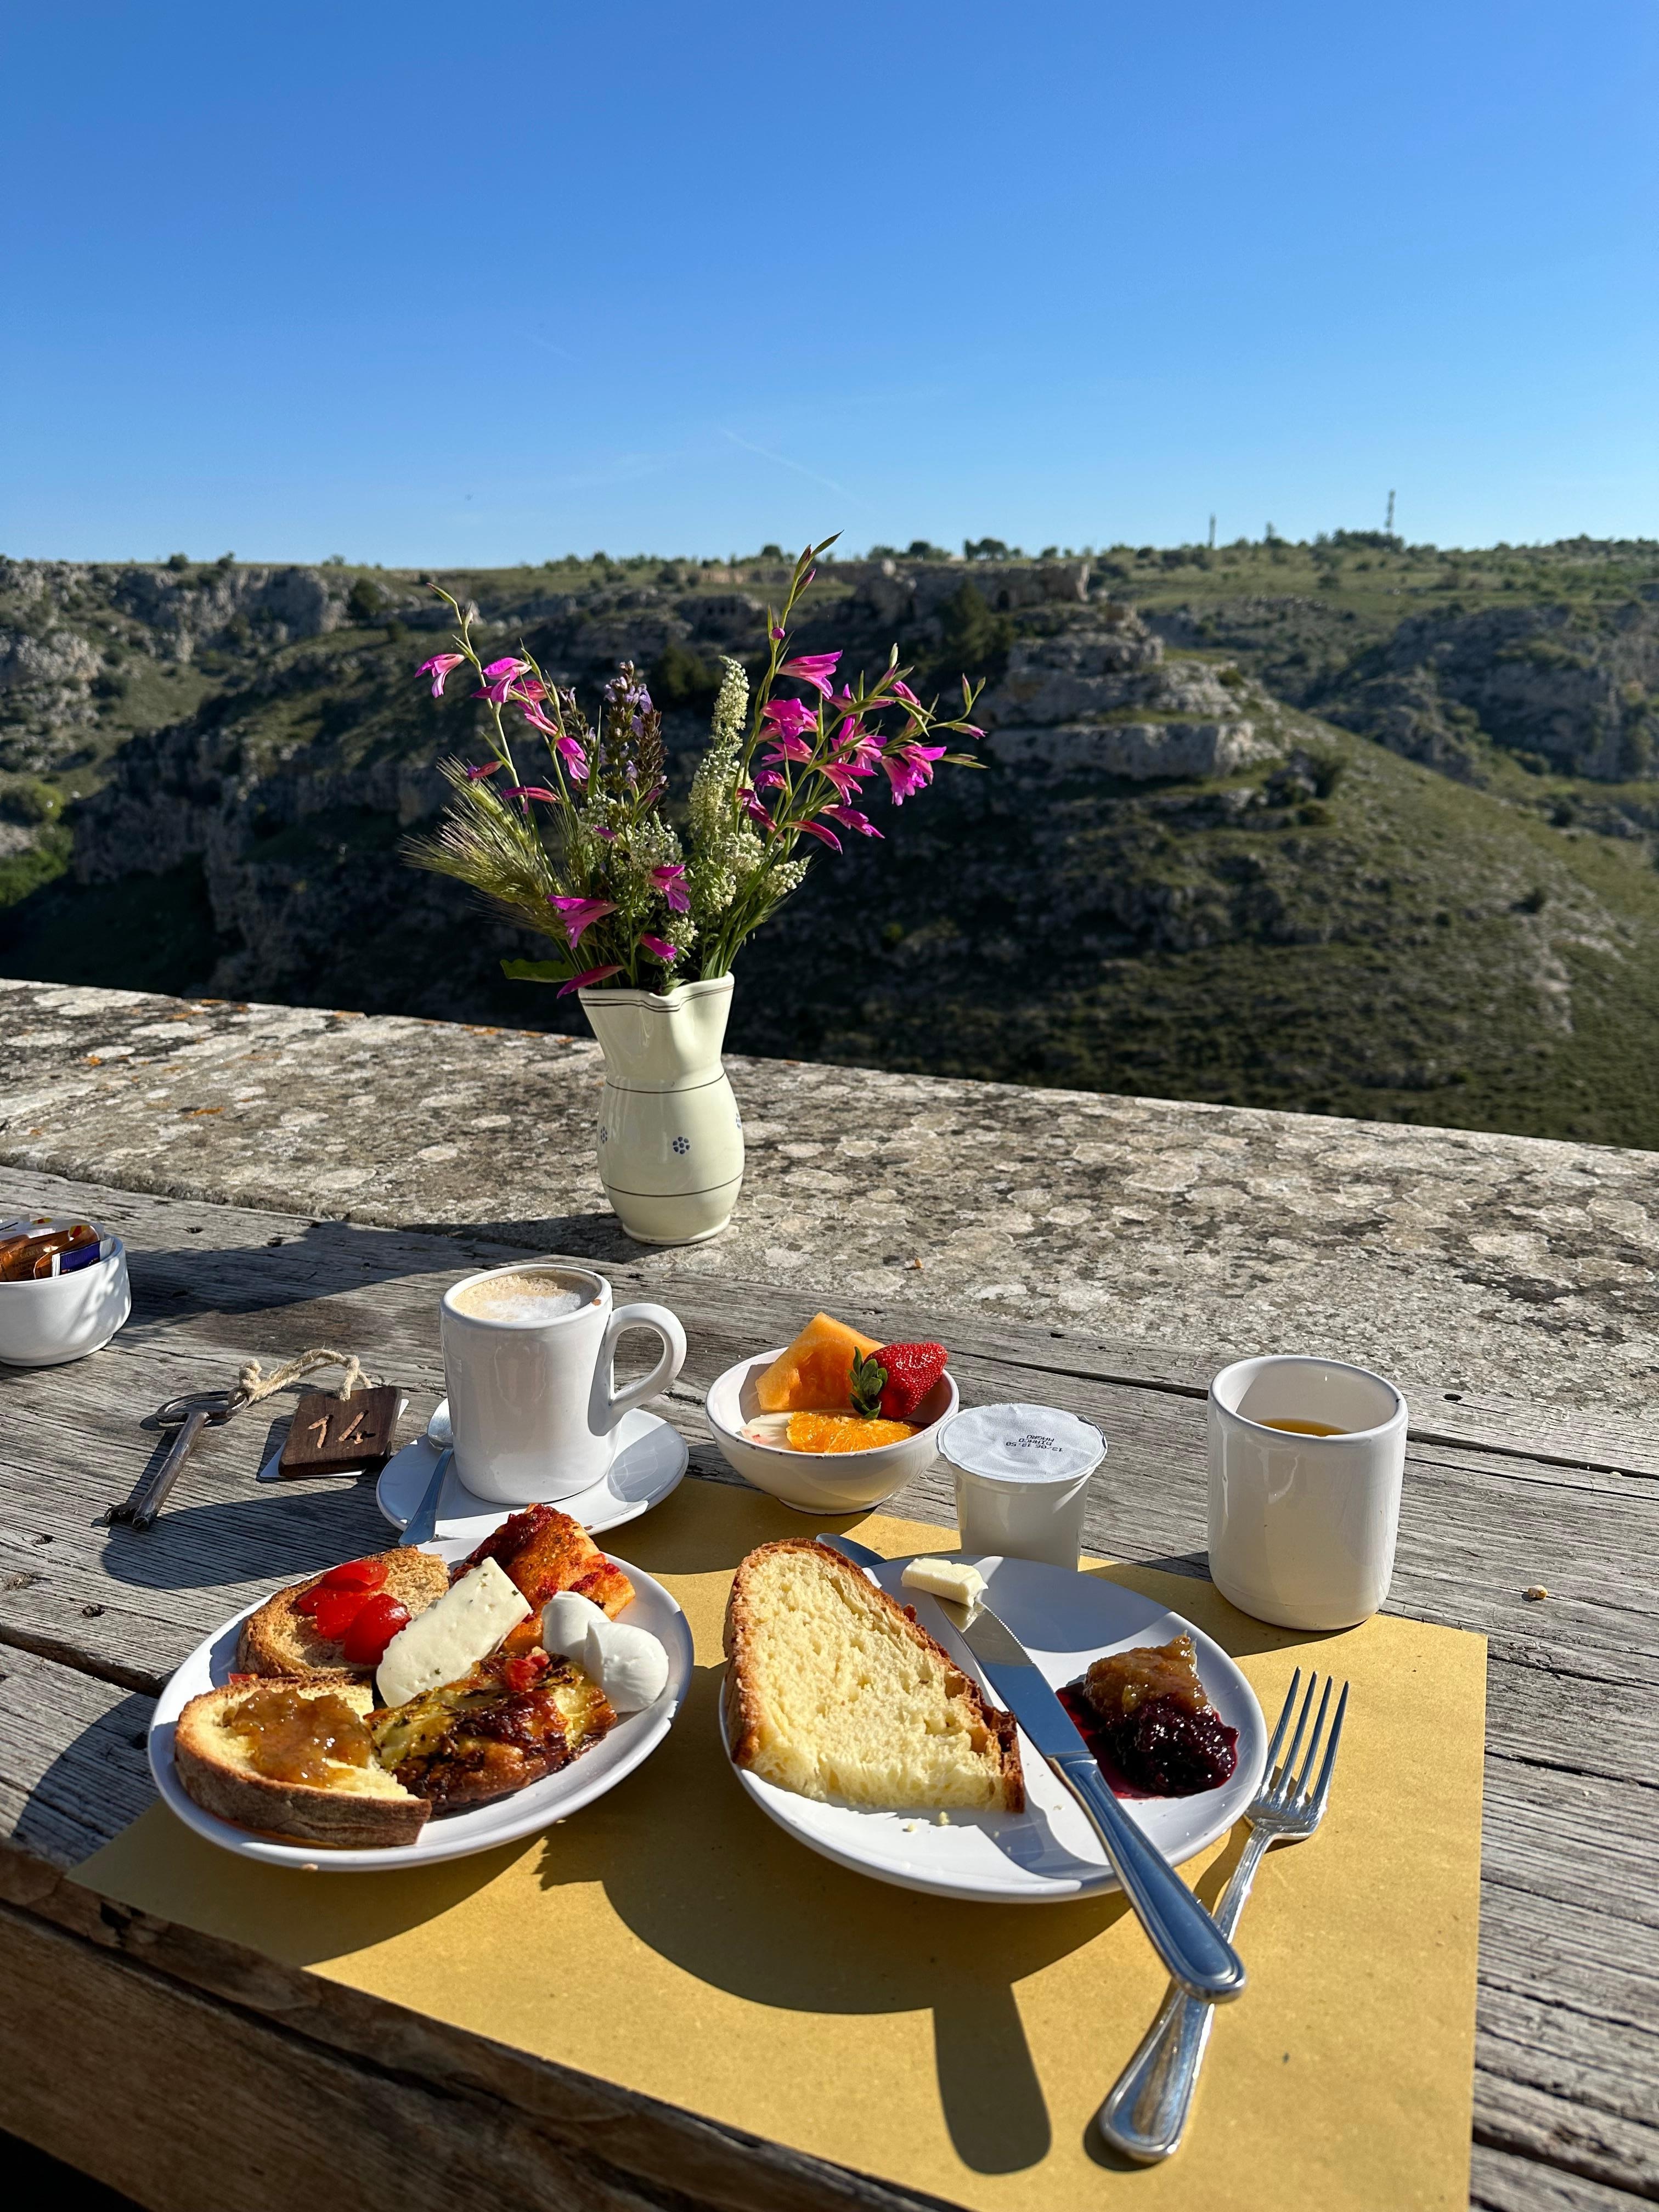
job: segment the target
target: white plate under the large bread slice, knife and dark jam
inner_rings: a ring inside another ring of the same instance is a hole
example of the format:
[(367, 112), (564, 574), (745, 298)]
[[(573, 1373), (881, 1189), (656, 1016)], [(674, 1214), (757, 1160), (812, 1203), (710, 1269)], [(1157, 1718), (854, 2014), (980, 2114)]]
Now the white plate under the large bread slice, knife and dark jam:
[[(1150, 1597), (1124, 1590), (1102, 1575), (1071, 1575), (1064, 1566), (1031, 1559), (1000, 1559), (980, 1553), (929, 1553), (971, 1559), (987, 1579), (987, 1597), (1020, 1637), (1053, 1688), (1077, 1681), (1091, 1659), (1133, 1644), (1168, 1644), (1190, 1635), (1199, 1652), (1199, 1674), (1228, 1728), (1239, 1730), (1239, 1765), (1219, 1790), (1188, 1798), (1124, 1798), (1124, 1812), (1179, 1865), (1232, 1827), (1256, 1794), (1267, 1761), (1267, 1728), (1256, 1692), (1232, 1659), (1179, 1613), (1166, 1613)], [(971, 1674), (984, 1679), (973, 1652), (956, 1632), (945, 1608), (920, 1590), (902, 1590), (902, 1559), (876, 1571), (876, 1582)], [(991, 1703), (1000, 1703), (995, 1697)], [(721, 1741), (726, 1717), (721, 1712)], [(730, 1756), (730, 1743), (726, 1745)], [(1075, 1798), (1055, 1781), (1035, 1747), (1020, 1736), (1026, 1778), (1026, 1809), (1020, 1814), (953, 1812), (949, 1827), (931, 1814), (863, 1812), (852, 1805), (821, 1805), (816, 1798), (779, 1790), (745, 1767), (734, 1767), (754, 1803), (807, 1849), (834, 1858), (854, 1874), (878, 1882), (925, 1889), (938, 1898), (980, 1898), (991, 1905), (1042, 1905), (1060, 1898), (1117, 1889), (1099, 1836)]]

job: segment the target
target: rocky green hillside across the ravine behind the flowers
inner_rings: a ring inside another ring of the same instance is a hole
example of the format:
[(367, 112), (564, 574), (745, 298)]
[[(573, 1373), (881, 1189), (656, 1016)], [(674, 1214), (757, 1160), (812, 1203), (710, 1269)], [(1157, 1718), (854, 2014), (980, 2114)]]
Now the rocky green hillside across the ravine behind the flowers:
[[(644, 664), (684, 790), (783, 571), (442, 582), (588, 697)], [(987, 772), (814, 865), (743, 958), (737, 1042), (1659, 1141), (1648, 602), (1389, 624), (1124, 586), (1088, 560), (825, 571), (801, 644), (984, 675)], [(473, 703), (414, 679), (442, 619), (380, 571), (0, 564), (0, 969), (573, 1026), (502, 982), (529, 940), (398, 856), (436, 763), (478, 748)]]

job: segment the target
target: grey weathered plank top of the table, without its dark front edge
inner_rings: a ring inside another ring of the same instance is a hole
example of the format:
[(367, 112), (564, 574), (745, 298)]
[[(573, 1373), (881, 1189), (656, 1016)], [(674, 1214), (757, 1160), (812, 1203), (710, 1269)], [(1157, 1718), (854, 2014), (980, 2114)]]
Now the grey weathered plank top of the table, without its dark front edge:
[[(248, 1356), (270, 1367), (330, 1343), (403, 1383), (411, 1416), (425, 1416), (440, 1391), (440, 1287), (520, 1256), (473, 1232), (365, 1230), (84, 1186), (71, 1203), (131, 1232), (135, 1314), (95, 1360), (0, 1374), (0, 1816), (35, 1869), (80, 1856), (144, 1803), (135, 1745), (146, 1701), (131, 1692), (157, 1688), (206, 1630), (274, 1579), (385, 1540), (369, 1484), (252, 1482), (270, 1440), (263, 1409), (204, 1440), (155, 1531), (95, 1526), (150, 1451), (137, 1413), (177, 1389), (228, 1383)], [(661, 1294), (648, 1261), (611, 1274), (630, 1294)], [(690, 1358), (666, 1411), (692, 1440), (695, 1467), (726, 1475), (703, 1440), (701, 1387), (757, 1343), (785, 1336), (810, 1294), (679, 1276), (672, 1303)], [(869, 1318), (898, 1325), (887, 1310)], [(1135, 1378), (1113, 1367), (1110, 1347), (1044, 1327), (951, 1321), (947, 1334), (969, 1398), (1044, 1396), (1104, 1427), (1095, 1548), (1203, 1573), (1201, 1363), (1177, 1371), (1159, 1356), (1144, 1363), (1157, 1374)], [(894, 1509), (953, 1522), (938, 1471)], [(626, 1535), (617, 1546), (626, 1553)], [(1486, 1451), (1467, 1438), (1413, 1438), (1389, 1608), (1493, 1639), (1482, 2201), (1601, 2201), (1562, 2197), (1568, 2183), (1659, 2192), (1659, 1913), (1644, 1878), (1659, 1763), (1652, 1559), (1644, 1473), (1595, 1453), (1553, 1460), (1513, 1440)], [(1544, 1604), (1522, 1599), (1533, 1582), (1551, 1588)], [(104, 1770), (111, 1785), (97, 1792)], [(283, 1991), (274, 2017), (292, 2004)]]

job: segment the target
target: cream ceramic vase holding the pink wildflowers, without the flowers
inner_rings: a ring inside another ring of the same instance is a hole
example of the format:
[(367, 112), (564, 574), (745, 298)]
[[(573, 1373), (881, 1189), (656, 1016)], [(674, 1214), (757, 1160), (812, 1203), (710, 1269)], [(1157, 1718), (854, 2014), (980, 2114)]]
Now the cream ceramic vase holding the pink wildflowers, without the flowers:
[(743, 1117), (721, 1064), (732, 978), (582, 991), (604, 1051), (599, 1181), (639, 1243), (719, 1237), (743, 1188)]

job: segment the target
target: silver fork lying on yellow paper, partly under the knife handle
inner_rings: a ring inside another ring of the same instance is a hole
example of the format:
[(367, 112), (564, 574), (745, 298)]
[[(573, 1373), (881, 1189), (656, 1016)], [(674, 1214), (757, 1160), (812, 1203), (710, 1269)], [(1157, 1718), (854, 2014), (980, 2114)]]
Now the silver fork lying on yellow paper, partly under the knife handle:
[[(1314, 1770), (1318, 1743), (1325, 1734), (1325, 1714), (1332, 1703), (1332, 1679), (1325, 1677), (1325, 1694), (1318, 1701), (1314, 1734), (1307, 1741), (1301, 1774), (1294, 1774), (1296, 1754), (1301, 1752), (1303, 1736), (1307, 1734), (1307, 1714), (1314, 1705), (1318, 1674), (1307, 1677), (1307, 1694), (1303, 1697), (1303, 1710), (1296, 1719), (1296, 1734), (1290, 1739), (1283, 1765), (1279, 1765), (1279, 1747), (1285, 1741), (1290, 1717), (1296, 1710), (1301, 1681), (1303, 1670), (1296, 1668), (1290, 1679), (1285, 1710), (1279, 1714), (1279, 1728), (1274, 1728), (1272, 1743), (1267, 1745), (1267, 1767), (1263, 1772), (1261, 1790), (1256, 1790), (1254, 1798), (1245, 1807), (1250, 1840), (1243, 1847), (1239, 1865), (1232, 1869), (1232, 1880), (1221, 1896), (1221, 1905), (1214, 1909), (1214, 1924), (1228, 1938), (1239, 1927), (1239, 1913), (1245, 1907), (1250, 1885), (1256, 1878), (1256, 1867), (1265, 1858), (1270, 1845), (1305, 1843), (1325, 1818), (1325, 1803), (1332, 1794), (1332, 1767), (1336, 1765), (1336, 1745), (1343, 1741), (1347, 1683), (1343, 1683), (1343, 1694), (1336, 1701), (1336, 1721), (1332, 1723), (1332, 1739), (1325, 1745), (1325, 1761), (1318, 1770), (1318, 1781), (1310, 1790), (1307, 1776)], [(1212, 2020), (1214, 2004), (1188, 1997), (1183, 1989), (1177, 1989), (1177, 1984), (1170, 1982), (1157, 2020), (1141, 2037), (1139, 2051), (1117, 2077), (1110, 2097), (1099, 2108), (1095, 2119), (1095, 2126), (1113, 2150), (1119, 2150), (1126, 2159), (1135, 2159), (1141, 2166), (1155, 2166), (1159, 2159), (1168, 2159), (1181, 2148), (1181, 2135), (1186, 2132), (1188, 2112), (1192, 2110), (1192, 2090), (1199, 2081), (1199, 2066), (1203, 2066), (1203, 2048), (1210, 2042)]]

